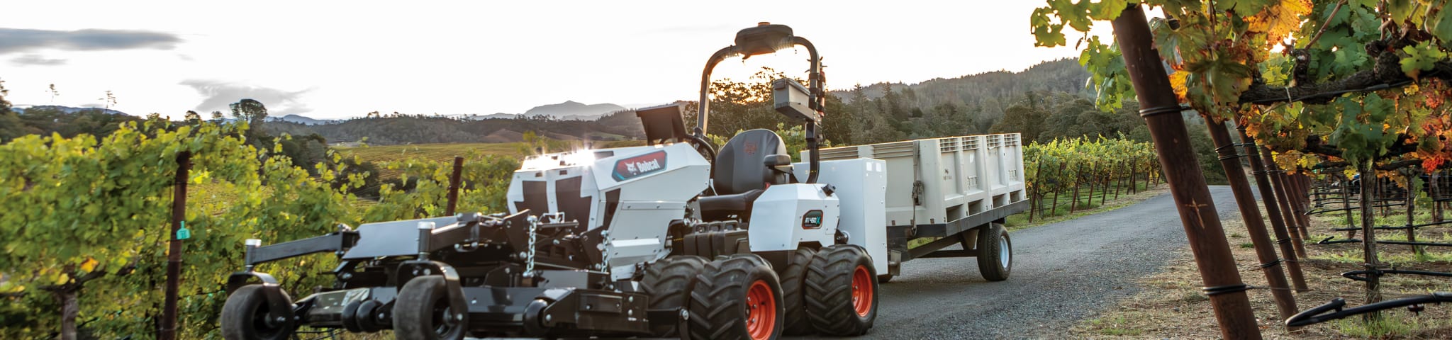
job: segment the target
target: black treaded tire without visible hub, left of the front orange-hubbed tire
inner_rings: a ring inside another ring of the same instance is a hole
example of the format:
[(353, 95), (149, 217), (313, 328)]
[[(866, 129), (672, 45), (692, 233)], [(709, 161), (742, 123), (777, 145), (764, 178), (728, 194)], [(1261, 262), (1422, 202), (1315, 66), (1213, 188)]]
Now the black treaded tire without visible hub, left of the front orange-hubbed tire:
[[(645, 294), (650, 296), (650, 309), (685, 308), (691, 301), (691, 288), (696, 275), (706, 267), (706, 257), (700, 256), (671, 256), (650, 263), (645, 269), (645, 279), (640, 282)], [(652, 323), (650, 333), (656, 337), (680, 337), (681, 323)]]

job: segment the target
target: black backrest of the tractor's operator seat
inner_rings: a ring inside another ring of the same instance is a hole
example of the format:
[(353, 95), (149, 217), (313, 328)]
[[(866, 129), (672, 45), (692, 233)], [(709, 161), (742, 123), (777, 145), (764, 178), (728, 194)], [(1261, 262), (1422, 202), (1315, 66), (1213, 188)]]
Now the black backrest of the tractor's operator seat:
[(735, 195), (755, 189), (767, 189), (777, 182), (775, 173), (767, 167), (767, 155), (786, 154), (787, 145), (770, 129), (742, 131), (726, 141), (716, 154), (716, 195)]

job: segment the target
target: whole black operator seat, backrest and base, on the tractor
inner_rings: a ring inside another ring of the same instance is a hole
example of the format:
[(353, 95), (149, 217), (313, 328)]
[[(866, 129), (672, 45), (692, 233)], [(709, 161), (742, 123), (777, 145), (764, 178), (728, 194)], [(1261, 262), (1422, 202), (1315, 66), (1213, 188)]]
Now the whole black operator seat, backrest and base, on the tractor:
[[(716, 154), (716, 173), (711, 176), (716, 196), (700, 199), (701, 218), (706, 221), (722, 221), (736, 215), (742, 221), (751, 216), (751, 203), (767, 190), (770, 185), (790, 183), (790, 157), (780, 164), (780, 157), (786, 157), (787, 145), (781, 137), (770, 129), (751, 129), (736, 134), (720, 153)], [(778, 163), (777, 169), (768, 166), (768, 160)]]

